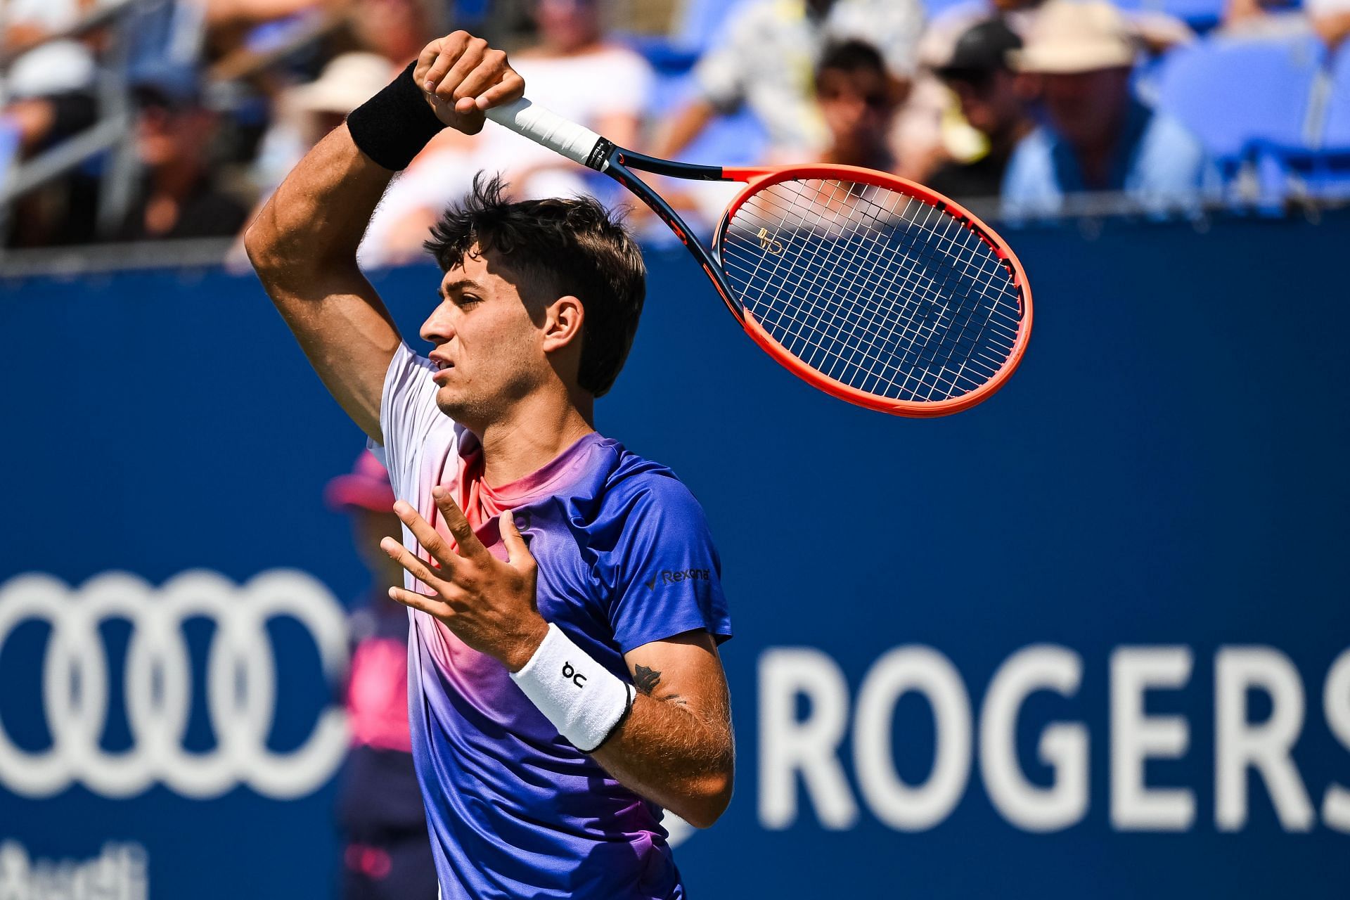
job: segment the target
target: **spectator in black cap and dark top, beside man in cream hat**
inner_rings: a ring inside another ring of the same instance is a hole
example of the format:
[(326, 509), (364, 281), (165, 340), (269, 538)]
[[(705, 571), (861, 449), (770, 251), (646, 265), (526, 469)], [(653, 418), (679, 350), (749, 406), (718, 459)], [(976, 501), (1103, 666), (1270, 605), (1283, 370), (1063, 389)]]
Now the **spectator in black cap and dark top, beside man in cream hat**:
[(953, 198), (996, 197), (1003, 188), (1013, 148), (1033, 128), (1017, 86), (1008, 54), (1022, 39), (1003, 19), (990, 19), (963, 34), (937, 76), (961, 105), (961, 116), (984, 136), (983, 151), (953, 161), (927, 179), (927, 186)]

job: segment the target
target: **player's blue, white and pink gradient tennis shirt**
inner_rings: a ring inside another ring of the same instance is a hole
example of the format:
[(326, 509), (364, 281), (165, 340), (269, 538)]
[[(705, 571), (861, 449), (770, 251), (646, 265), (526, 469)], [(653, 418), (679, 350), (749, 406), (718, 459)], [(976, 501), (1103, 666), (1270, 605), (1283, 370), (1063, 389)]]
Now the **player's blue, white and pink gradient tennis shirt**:
[[(478, 439), (436, 406), (435, 371), (401, 345), (385, 378), (373, 449), (400, 498), (444, 529), (431, 488), (448, 487), (504, 559), (495, 517), (513, 510), (540, 614), (625, 680), (624, 653), (644, 644), (730, 636), (703, 511), (668, 468), (591, 433), (490, 487)], [(404, 541), (425, 559), (406, 529)], [(410, 622), (412, 750), (443, 897), (683, 897), (660, 807), (560, 737), (501, 663), (425, 613)]]

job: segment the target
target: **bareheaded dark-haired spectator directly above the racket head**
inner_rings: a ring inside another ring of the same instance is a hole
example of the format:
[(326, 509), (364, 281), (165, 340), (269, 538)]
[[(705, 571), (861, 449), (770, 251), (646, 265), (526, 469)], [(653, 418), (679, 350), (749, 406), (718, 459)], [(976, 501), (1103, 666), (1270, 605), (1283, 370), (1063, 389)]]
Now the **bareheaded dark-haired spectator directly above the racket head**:
[(829, 132), (822, 162), (894, 169), (887, 138), (899, 96), (876, 47), (861, 40), (828, 47), (815, 72), (815, 99)]

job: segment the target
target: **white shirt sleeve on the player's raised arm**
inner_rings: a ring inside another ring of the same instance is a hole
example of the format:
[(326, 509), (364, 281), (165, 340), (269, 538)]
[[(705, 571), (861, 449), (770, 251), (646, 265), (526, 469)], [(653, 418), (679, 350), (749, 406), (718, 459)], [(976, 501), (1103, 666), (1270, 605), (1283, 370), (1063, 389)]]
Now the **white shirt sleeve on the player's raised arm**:
[(379, 432), (383, 445), (367, 440), (366, 445), (389, 470), (389, 480), (398, 497), (406, 498), (416, 480), (417, 449), (425, 444), (432, 428), (444, 414), (436, 406), (436, 385), (431, 381), (435, 363), (417, 356), (408, 344), (398, 344), (385, 372), (379, 398)]

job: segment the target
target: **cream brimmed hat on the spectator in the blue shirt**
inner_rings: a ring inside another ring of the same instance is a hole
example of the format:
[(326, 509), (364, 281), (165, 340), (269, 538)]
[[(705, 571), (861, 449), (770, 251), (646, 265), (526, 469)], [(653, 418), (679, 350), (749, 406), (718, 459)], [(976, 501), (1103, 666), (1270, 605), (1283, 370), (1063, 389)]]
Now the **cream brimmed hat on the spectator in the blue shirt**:
[(1135, 35), (1120, 11), (1104, 0), (1049, 0), (1008, 54), (1018, 72), (1073, 74), (1133, 66)]

